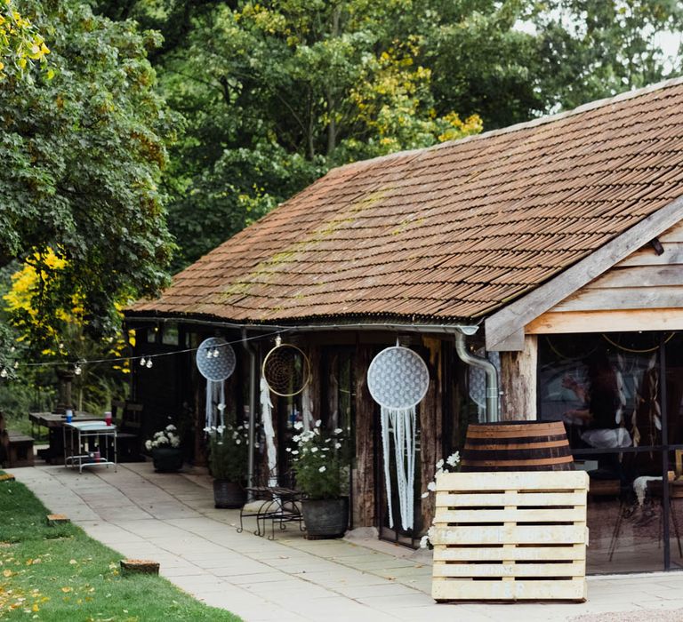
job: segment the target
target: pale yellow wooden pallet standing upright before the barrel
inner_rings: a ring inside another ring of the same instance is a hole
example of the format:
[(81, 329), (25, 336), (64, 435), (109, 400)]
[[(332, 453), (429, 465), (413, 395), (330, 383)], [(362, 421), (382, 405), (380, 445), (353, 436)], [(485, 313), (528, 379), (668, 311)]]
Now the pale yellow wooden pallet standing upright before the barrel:
[(437, 477), (437, 601), (586, 599), (583, 471)]

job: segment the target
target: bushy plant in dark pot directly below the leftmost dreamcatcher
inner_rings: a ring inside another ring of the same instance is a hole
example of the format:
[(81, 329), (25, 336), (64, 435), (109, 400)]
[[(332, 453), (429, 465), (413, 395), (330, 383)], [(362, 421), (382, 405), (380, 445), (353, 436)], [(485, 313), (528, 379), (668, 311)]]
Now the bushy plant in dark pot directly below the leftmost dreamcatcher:
[(213, 475), (216, 507), (245, 505), (244, 489), (249, 437), (246, 426), (205, 428), (209, 445), (209, 471)]

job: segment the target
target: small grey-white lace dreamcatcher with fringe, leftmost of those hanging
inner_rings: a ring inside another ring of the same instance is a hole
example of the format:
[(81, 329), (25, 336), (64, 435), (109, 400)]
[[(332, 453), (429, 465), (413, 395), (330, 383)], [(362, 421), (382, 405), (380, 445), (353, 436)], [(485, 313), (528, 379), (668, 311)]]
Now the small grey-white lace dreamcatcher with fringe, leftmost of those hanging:
[[(206, 379), (205, 427), (225, 425), (225, 386), (223, 382), (235, 371), (235, 350), (220, 337), (210, 337), (197, 348), (197, 369)], [(216, 411), (219, 416), (216, 416)]]

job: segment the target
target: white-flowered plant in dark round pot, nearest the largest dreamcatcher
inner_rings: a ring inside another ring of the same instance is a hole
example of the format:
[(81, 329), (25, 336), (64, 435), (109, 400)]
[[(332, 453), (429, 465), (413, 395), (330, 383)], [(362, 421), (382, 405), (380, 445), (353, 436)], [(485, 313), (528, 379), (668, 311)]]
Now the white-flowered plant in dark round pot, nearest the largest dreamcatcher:
[[(301, 430), (301, 423), (296, 427)], [(340, 538), (349, 525), (349, 498), (342, 496), (342, 475), (347, 472), (342, 455), (342, 429), (327, 432), (316, 421), (311, 430), (293, 436), (288, 451), (293, 456), (303, 521), (309, 536)]]

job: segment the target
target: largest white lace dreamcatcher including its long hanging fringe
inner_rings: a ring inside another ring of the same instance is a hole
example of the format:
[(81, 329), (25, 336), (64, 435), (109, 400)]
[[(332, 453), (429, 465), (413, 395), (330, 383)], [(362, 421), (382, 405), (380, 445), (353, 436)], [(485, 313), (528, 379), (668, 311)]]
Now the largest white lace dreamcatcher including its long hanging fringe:
[(413, 529), (415, 473), (415, 407), (430, 387), (430, 371), (422, 357), (407, 347), (388, 347), (376, 355), (367, 370), (367, 388), (382, 413), (384, 480), (393, 528), (390, 477), (390, 431), (394, 438), (396, 482), (401, 525)]

